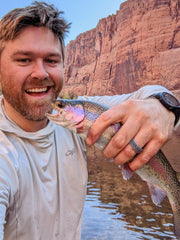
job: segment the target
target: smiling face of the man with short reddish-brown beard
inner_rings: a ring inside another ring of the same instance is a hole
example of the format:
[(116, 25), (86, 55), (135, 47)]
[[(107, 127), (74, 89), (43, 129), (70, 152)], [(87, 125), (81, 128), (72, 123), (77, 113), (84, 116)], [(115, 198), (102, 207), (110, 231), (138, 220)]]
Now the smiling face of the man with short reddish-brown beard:
[(5, 44), (0, 82), (7, 114), (13, 118), (13, 112), (18, 112), (28, 120), (44, 120), (63, 86), (59, 39), (44, 27), (25, 28)]

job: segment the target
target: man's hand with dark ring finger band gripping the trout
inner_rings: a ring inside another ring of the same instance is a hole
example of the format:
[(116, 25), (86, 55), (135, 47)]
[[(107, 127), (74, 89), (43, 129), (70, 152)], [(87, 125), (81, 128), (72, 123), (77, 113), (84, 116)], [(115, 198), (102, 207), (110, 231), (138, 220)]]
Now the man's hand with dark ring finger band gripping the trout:
[[(92, 125), (87, 143), (94, 144), (104, 130), (113, 123), (123, 126), (104, 149), (104, 155), (118, 165), (129, 162), (132, 171), (147, 163), (171, 137), (174, 114), (157, 99), (128, 100), (104, 112)], [(143, 151), (136, 155), (129, 142), (134, 138)], [(136, 155), (136, 156), (135, 156)]]

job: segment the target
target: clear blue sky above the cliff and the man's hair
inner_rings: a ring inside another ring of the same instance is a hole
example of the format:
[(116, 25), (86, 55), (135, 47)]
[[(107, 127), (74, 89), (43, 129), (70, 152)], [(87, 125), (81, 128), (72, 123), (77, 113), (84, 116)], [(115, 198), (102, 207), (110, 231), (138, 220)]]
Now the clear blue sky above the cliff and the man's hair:
[[(24, 7), (32, 0), (0, 0), (0, 18), (14, 8)], [(71, 28), (65, 38), (65, 44), (74, 40), (80, 33), (95, 28), (101, 18), (116, 14), (125, 0), (44, 0), (54, 4), (64, 12), (64, 18), (71, 22)]]

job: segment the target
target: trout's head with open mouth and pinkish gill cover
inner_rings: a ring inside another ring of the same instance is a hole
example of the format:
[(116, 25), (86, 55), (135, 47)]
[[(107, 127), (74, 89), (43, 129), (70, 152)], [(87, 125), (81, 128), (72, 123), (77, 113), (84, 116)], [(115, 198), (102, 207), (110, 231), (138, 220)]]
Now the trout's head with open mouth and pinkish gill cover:
[(52, 114), (46, 113), (50, 121), (74, 132), (82, 127), (85, 113), (79, 101), (58, 99), (52, 102), (52, 106), (54, 109)]

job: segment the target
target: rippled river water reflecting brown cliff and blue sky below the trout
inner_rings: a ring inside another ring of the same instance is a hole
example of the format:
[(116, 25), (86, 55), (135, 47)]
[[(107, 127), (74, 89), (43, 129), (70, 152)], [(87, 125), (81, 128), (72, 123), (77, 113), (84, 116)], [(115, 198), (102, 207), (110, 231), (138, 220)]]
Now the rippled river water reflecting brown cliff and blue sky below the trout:
[(136, 174), (125, 181), (101, 153), (89, 155), (82, 240), (176, 239), (167, 198), (155, 206), (147, 184)]

